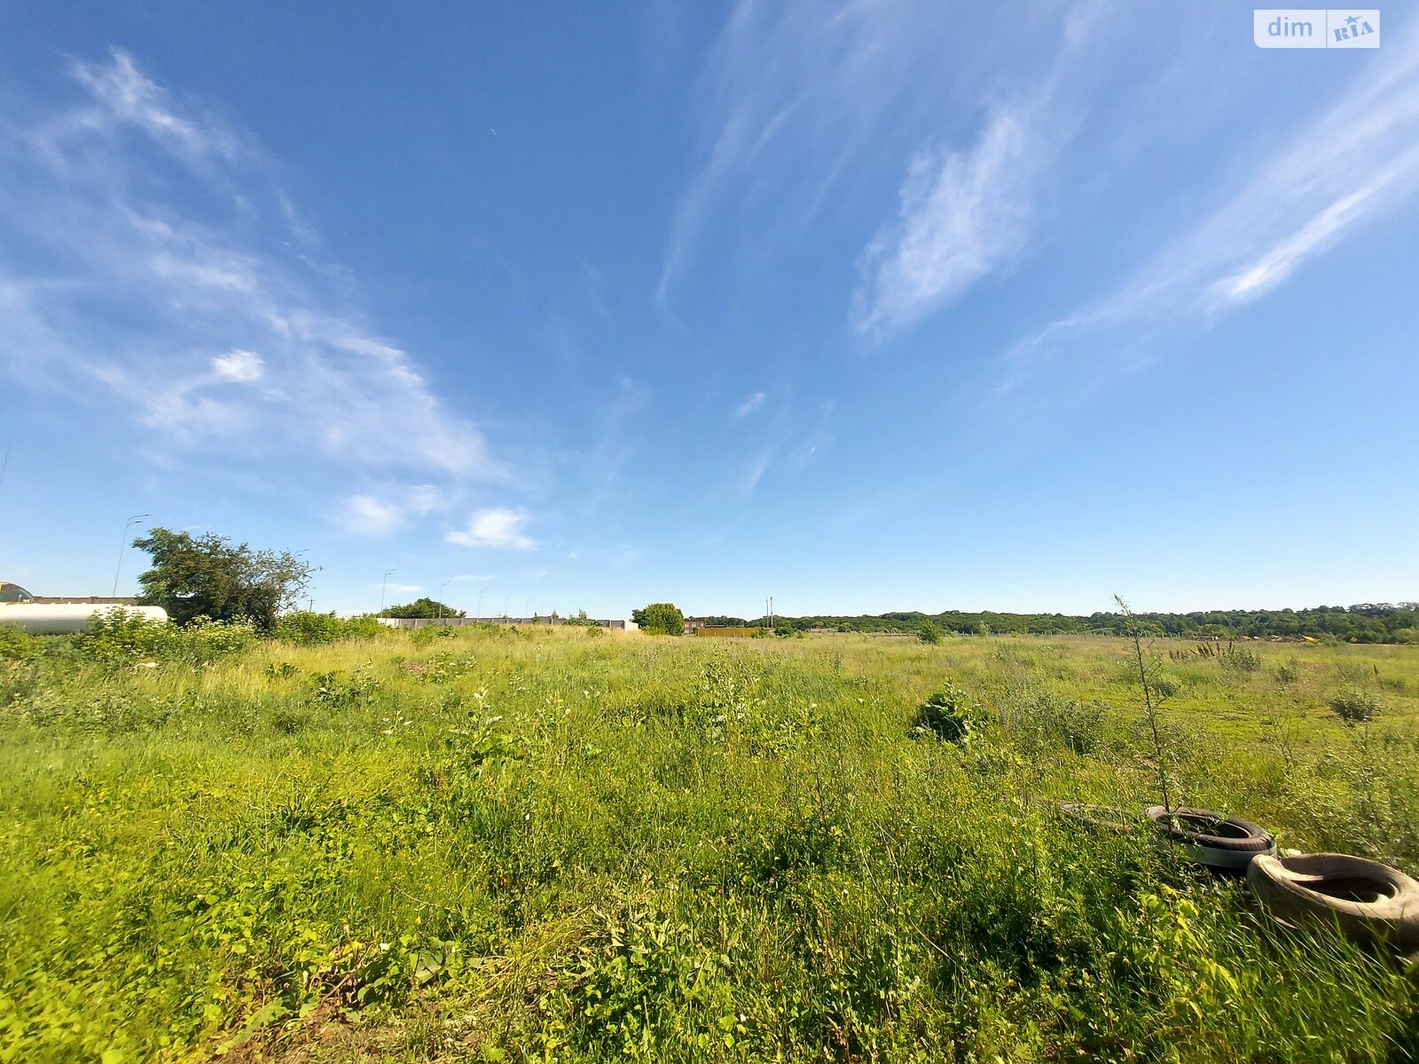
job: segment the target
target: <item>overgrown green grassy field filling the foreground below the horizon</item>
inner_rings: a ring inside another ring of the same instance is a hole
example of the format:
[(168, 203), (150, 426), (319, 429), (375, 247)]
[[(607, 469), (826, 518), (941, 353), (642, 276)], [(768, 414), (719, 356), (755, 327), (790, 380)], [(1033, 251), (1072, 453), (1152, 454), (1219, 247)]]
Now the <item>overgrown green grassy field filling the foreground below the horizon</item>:
[[(1419, 871), (1419, 648), (1158, 651), (1189, 804)], [(1130, 653), (463, 630), (0, 661), (0, 1061), (1419, 1057), (1413, 966), (1056, 817), (1158, 800)], [(948, 678), (965, 745), (912, 728)]]

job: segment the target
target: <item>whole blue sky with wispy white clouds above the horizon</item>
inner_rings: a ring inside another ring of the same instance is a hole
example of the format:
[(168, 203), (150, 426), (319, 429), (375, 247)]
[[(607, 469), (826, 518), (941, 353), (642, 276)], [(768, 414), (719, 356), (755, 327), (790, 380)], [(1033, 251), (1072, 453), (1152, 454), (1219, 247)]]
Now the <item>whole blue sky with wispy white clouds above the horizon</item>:
[(1419, 16), (1382, 34), (9, 4), (0, 575), (106, 593), (146, 512), (308, 550), (316, 609), (1419, 599)]

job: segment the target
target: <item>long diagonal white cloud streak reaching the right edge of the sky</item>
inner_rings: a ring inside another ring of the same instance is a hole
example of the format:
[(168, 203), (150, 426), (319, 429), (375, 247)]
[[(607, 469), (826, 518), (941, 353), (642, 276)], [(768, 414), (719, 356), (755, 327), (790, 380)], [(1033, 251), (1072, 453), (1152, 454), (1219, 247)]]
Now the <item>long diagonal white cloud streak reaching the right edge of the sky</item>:
[(1280, 288), (1369, 218), (1419, 190), (1419, 31), (1393, 37), (1324, 113), (1266, 159), (1223, 206), (1179, 233), (1094, 304), (1006, 355), (1019, 386), (1043, 362), (1103, 336), (1148, 346), (1161, 329), (1205, 328)]

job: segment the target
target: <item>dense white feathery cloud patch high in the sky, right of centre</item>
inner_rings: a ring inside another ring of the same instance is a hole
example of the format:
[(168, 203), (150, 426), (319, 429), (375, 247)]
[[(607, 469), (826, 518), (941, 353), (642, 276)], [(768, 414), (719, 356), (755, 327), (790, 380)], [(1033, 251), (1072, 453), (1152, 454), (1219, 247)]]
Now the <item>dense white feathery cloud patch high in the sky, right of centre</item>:
[(1009, 265), (1032, 233), (1034, 194), (1056, 148), (1034, 106), (999, 106), (968, 150), (925, 149), (907, 169), (901, 213), (868, 245), (857, 326), (910, 325)]

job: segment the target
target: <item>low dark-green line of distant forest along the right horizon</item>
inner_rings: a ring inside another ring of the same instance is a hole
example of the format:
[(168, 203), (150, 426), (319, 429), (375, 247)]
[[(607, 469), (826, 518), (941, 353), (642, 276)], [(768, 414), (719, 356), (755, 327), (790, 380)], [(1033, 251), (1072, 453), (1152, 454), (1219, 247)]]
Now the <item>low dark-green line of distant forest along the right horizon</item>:
[[(1139, 627), (1152, 636), (1182, 638), (1298, 638), (1341, 643), (1419, 643), (1419, 603), (1398, 606), (1317, 606), (1310, 610), (1208, 610), (1202, 613), (1139, 613)], [(765, 624), (766, 617), (705, 617), (707, 624)], [(1032, 633), (1042, 636), (1121, 636), (1124, 617), (1094, 613), (1071, 617), (1063, 613), (883, 613), (860, 617), (775, 617), (780, 631), (868, 631), (912, 634), (924, 620), (961, 636)]]

